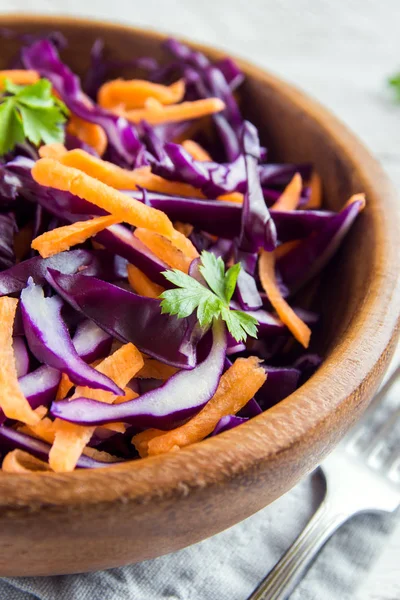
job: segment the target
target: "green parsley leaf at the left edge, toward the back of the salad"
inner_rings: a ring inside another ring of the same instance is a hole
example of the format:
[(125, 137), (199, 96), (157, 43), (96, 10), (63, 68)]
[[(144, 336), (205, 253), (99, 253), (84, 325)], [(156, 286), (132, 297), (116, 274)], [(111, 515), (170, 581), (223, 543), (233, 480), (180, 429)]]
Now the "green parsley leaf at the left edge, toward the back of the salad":
[(38, 146), (64, 141), (62, 124), (67, 107), (52, 95), (48, 79), (33, 85), (16, 85), (4, 79), (0, 96), (0, 156), (25, 139)]

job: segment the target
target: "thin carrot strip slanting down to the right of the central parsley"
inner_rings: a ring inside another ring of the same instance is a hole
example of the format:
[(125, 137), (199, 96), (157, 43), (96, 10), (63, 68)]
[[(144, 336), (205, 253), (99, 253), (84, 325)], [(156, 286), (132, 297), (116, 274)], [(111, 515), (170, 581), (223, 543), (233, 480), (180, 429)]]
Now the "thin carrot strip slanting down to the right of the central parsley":
[(261, 250), (258, 269), (261, 285), (279, 318), (290, 329), (296, 340), (305, 348), (308, 348), (311, 330), (282, 297), (275, 278), (275, 256), (273, 252)]

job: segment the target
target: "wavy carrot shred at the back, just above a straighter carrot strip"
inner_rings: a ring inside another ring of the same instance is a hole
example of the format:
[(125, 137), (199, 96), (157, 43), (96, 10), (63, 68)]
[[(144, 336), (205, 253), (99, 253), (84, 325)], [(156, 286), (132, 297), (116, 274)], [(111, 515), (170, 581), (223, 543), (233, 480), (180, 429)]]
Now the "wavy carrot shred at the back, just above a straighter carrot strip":
[(161, 104), (176, 104), (181, 102), (185, 95), (185, 82), (183, 79), (171, 85), (161, 85), (142, 79), (114, 79), (107, 81), (99, 89), (97, 101), (103, 108), (113, 108), (122, 105), (124, 109), (131, 110), (144, 108), (146, 100), (154, 98)]

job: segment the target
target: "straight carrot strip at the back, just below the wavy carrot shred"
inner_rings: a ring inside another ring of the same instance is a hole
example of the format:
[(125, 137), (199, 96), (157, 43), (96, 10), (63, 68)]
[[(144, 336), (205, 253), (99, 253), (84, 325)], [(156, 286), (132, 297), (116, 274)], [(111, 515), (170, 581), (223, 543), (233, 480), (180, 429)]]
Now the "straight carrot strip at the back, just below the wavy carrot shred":
[(145, 108), (136, 110), (114, 110), (117, 114), (125, 117), (131, 123), (147, 121), (150, 125), (162, 123), (177, 123), (190, 119), (199, 119), (206, 115), (212, 115), (224, 110), (225, 103), (220, 98), (204, 98), (193, 102), (182, 102), (171, 106), (163, 106), (157, 100), (149, 98)]

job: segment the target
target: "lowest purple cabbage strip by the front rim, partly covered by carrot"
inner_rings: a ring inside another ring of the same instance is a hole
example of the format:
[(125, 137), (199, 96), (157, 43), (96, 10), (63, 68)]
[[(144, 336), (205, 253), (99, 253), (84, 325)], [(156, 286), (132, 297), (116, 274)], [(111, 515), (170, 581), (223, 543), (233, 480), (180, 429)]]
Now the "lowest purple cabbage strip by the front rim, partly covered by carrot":
[[(15, 449), (25, 450), (26, 452), (29, 452), (29, 454), (32, 454), (33, 456), (36, 456), (36, 458), (47, 463), (49, 460), (50, 448), (51, 446), (46, 442), (42, 442), (42, 440), (38, 440), (26, 433), (21, 433), (20, 431), (16, 431), (5, 425), (0, 427), (0, 449), (3, 452), (10, 452)], [(116, 463), (100, 462), (82, 454), (79, 457), (76, 466), (79, 469), (96, 469), (99, 467), (109, 467), (111, 464), (115, 465)]]

